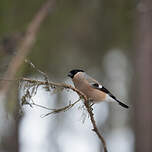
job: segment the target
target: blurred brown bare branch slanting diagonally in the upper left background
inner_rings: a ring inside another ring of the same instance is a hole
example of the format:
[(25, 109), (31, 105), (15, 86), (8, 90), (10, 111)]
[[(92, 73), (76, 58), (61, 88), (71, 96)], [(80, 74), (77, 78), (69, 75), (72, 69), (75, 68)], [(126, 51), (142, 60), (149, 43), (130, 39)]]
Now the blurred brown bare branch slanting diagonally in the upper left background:
[[(36, 40), (36, 34), (39, 31), (40, 25), (48, 15), (49, 11), (54, 8), (55, 0), (48, 0), (44, 3), (41, 9), (37, 12), (36, 16), (33, 18), (29, 26), (27, 27), (27, 31), (25, 33), (25, 37), (22, 42), (17, 47), (17, 53), (12, 58), (12, 61), (8, 65), (8, 69), (4, 74), (4, 79), (15, 79), (15, 75), (19, 70), (20, 66), (24, 62), (25, 57), (31, 51), (32, 46)], [(1, 84), (1, 91), (4, 95), (8, 92), (11, 83), (4, 82)]]

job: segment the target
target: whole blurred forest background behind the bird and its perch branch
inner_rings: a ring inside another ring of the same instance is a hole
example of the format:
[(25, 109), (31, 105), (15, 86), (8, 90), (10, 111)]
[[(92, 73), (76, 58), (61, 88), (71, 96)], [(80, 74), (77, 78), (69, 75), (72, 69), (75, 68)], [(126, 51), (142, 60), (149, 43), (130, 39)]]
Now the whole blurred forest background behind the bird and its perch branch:
[[(103, 151), (82, 102), (45, 118), (48, 110), (20, 105), (22, 84), (2, 80), (43, 80), (25, 59), (53, 82), (72, 84), (67, 73), (77, 68), (96, 78), (130, 105), (128, 110), (113, 103), (93, 106), (108, 151), (151, 152), (151, 10), (150, 0), (1, 0), (0, 152)], [(32, 99), (61, 108), (78, 95), (39, 87)]]

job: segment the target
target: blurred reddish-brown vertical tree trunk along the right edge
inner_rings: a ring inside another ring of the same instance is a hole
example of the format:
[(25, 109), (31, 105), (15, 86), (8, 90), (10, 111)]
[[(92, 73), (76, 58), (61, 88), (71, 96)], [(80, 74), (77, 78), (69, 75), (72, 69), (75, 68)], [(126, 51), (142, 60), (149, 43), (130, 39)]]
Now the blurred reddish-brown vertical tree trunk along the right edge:
[(136, 14), (136, 152), (152, 152), (152, 0), (141, 0)]

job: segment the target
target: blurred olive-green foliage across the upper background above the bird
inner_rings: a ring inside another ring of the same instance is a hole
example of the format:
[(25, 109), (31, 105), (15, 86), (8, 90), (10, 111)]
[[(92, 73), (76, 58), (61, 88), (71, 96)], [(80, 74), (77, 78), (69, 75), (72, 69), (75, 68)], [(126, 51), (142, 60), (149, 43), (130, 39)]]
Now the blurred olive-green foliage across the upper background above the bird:
[[(0, 39), (24, 32), (43, 2), (1, 0)], [(43, 23), (29, 58), (44, 71), (58, 75), (73, 66), (100, 65), (108, 49), (128, 51), (132, 40), (133, 3), (58, 0), (54, 12)], [(5, 57), (3, 51), (1, 57)], [(30, 72), (28, 68), (25, 71)]]

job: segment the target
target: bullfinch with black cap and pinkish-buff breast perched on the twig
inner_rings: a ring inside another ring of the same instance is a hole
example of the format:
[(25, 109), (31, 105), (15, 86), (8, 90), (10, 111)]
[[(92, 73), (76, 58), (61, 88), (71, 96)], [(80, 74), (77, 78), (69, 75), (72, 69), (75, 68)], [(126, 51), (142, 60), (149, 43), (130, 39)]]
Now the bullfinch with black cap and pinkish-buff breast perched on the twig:
[(71, 70), (68, 73), (68, 77), (72, 79), (75, 88), (84, 93), (93, 103), (102, 101), (115, 102), (124, 108), (129, 108), (128, 105), (119, 101), (110, 91), (85, 71), (80, 69)]

